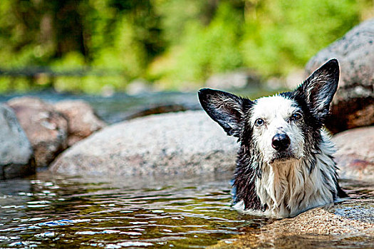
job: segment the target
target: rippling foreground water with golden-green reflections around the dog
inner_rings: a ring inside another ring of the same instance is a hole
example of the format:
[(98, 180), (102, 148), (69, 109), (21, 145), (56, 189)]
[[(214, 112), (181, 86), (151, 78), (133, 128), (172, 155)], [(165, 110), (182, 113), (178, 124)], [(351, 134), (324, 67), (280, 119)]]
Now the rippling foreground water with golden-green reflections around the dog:
[[(219, 240), (231, 243), (230, 238), (271, 220), (243, 216), (230, 207), (230, 177), (97, 179), (41, 172), (0, 181), (0, 247), (204, 248)], [(345, 181), (343, 186), (354, 198), (373, 197), (370, 184)]]

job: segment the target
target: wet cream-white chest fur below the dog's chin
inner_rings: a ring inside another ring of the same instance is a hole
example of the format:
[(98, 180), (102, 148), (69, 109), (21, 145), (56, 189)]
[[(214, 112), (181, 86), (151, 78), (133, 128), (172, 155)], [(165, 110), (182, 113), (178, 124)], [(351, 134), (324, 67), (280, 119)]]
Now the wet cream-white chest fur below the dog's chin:
[(255, 180), (256, 194), (271, 216), (296, 216), (333, 201), (333, 194), (320, 174), (319, 169), (309, 172), (299, 162), (267, 165), (261, 178)]

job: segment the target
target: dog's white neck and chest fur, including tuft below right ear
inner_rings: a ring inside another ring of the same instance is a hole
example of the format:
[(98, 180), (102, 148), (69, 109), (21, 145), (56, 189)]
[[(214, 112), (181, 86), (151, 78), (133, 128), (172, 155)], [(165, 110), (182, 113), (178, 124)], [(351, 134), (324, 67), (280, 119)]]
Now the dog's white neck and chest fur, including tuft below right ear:
[(256, 194), (271, 216), (296, 216), (308, 208), (333, 202), (336, 197), (333, 144), (323, 137), (321, 152), (301, 159), (262, 164)]

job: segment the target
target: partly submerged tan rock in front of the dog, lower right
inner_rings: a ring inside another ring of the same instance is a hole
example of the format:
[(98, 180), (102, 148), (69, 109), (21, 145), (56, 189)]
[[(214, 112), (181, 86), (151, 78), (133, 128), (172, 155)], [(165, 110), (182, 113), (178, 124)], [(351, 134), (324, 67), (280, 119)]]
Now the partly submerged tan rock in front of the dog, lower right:
[[(374, 244), (374, 201), (349, 200), (313, 208), (294, 218), (274, 221), (260, 230), (222, 240), (212, 248), (369, 248)], [(309, 248), (309, 247), (308, 247)]]

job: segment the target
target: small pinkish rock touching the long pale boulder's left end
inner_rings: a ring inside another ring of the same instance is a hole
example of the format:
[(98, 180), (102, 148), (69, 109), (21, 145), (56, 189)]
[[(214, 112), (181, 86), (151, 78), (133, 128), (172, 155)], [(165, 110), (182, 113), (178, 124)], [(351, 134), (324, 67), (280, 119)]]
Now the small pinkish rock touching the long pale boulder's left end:
[(106, 126), (105, 122), (95, 115), (93, 108), (83, 100), (60, 101), (53, 107), (68, 120), (69, 147)]

